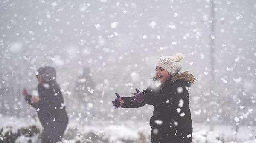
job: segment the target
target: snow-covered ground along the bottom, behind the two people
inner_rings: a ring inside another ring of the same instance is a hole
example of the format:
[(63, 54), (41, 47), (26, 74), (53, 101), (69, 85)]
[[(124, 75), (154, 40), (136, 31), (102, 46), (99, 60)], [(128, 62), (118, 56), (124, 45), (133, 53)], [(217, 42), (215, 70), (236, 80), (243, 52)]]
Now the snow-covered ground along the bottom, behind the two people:
[[(28, 126), (37, 126), (41, 131), (41, 125), (35, 120), (24, 118), (2, 117), (0, 118), (1, 136), (7, 132), (17, 134), (20, 129)], [(241, 126), (237, 133), (237, 141), (232, 131), (232, 126), (210, 126), (194, 123), (193, 143), (256, 143), (253, 140), (255, 131), (252, 127)], [(63, 143), (149, 143), (150, 127), (148, 122), (136, 121), (92, 121), (90, 125), (83, 125), (76, 120), (70, 120), (64, 134)], [(40, 143), (40, 135), (31, 137), (26, 133), (17, 137), (15, 143)], [(3, 140), (3, 138), (1, 138)]]

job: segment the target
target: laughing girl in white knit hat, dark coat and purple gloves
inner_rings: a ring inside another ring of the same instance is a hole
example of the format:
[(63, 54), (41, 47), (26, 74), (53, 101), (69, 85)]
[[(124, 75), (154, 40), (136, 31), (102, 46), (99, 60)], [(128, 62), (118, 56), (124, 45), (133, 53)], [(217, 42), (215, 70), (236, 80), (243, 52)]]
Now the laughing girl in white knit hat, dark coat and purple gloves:
[(113, 102), (115, 108), (138, 108), (153, 105), (150, 119), (152, 143), (192, 142), (192, 121), (189, 109), (189, 87), (195, 77), (188, 72), (178, 73), (183, 65), (183, 54), (163, 56), (156, 63), (152, 84), (133, 97), (120, 97)]

